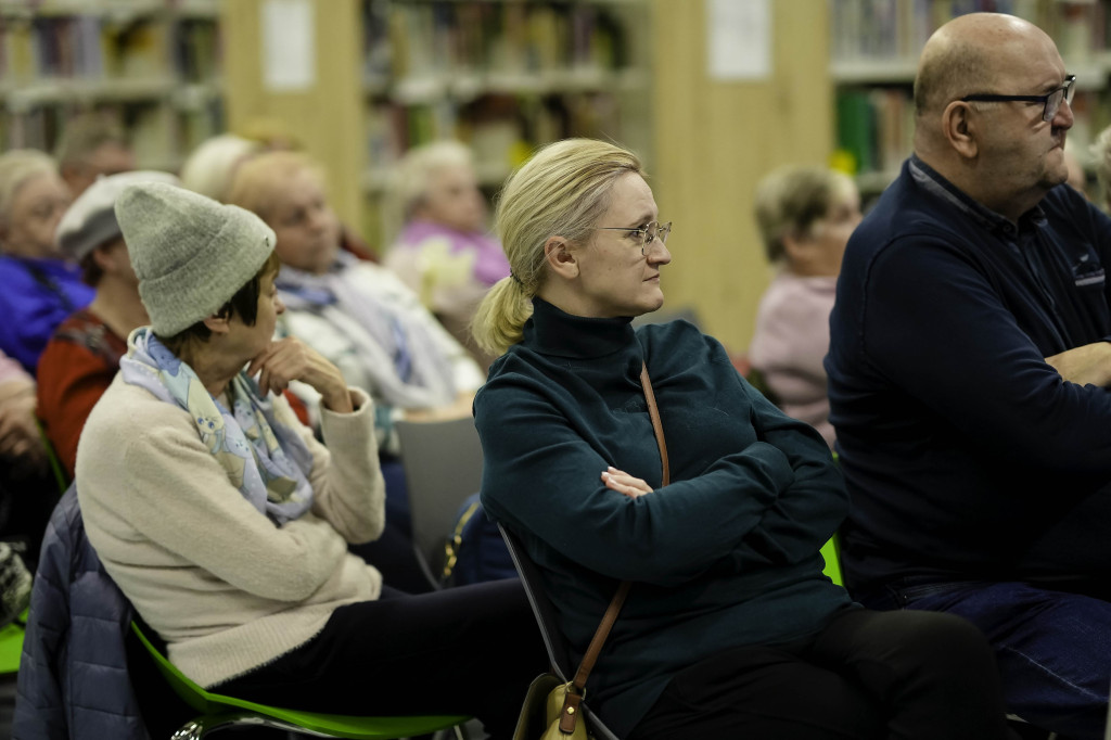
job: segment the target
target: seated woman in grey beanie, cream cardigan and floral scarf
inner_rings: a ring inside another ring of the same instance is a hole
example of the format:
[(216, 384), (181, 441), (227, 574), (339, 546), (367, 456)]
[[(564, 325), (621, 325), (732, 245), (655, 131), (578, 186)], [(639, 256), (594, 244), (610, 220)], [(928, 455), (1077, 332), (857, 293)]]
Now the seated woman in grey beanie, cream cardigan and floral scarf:
[[(116, 203), (150, 327), (77, 456), (92, 546), (200, 686), (342, 714), (470, 713), (510, 737), (543, 666), (520, 583), (409, 596), (347, 544), (383, 527), (373, 403), (297, 339), (274, 232), (166, 183)], [(277, 394), (321, 397), (327, 448)]]

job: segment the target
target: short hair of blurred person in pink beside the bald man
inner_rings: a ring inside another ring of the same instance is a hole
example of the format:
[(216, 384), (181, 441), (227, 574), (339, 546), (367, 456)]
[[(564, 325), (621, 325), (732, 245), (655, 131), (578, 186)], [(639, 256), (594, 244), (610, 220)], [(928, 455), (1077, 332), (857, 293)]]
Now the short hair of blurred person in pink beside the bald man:
[(852, 180), (824, 167), (787, 166), (757, 184), (755, 217), (769, 262), (787, 256), (783, 238), (810, 233), (839, 196), (854, 188)]

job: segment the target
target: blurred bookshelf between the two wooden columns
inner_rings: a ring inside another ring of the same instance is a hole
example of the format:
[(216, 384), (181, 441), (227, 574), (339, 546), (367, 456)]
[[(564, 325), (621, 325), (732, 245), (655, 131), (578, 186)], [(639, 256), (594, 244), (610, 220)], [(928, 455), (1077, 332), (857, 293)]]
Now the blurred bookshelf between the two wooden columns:
[[(364, 0), (373, 200), (411, 147), (457, 138), (491, 192), (538, 144), (620, 141), (648, 157), (650, 0)], [(368, 211), (374, 211), (371, 208)]]

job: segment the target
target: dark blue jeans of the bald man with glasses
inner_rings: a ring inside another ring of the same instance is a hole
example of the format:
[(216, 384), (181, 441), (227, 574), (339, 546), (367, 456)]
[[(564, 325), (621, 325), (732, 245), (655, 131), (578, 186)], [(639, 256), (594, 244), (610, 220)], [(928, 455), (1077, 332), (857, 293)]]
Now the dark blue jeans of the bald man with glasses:
[[(1107, 588), (1107, 584), (1103, 584)], [(1023, 582), (915, 582), (861, 599), (875, 609), (964, 617), (988, 637), (1011, 712), (1077, 740), (1103, 740), (1111, 601)]]

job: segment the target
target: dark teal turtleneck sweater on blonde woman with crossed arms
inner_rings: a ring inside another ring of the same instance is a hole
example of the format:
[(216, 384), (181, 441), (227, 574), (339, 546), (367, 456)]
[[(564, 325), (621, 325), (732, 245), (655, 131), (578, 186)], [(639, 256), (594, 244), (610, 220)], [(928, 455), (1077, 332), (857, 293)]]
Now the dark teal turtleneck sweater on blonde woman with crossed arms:
[[(649, 376), (671, 466), (640, 387)], [(474, 400), (482, 503), (540, 567), (579, 660), (623, 579), (633, 581), (590, 680), (618, 736), (679, 670), (722, 650), (785, 642), (851, 604), (819, 549), (848, 510), (822, 438), (783, 416), (683, 321), (570, 316), (540, 299), (523, 340)], [(613, 466), (655, 490), (607, 489)]]

